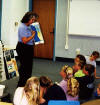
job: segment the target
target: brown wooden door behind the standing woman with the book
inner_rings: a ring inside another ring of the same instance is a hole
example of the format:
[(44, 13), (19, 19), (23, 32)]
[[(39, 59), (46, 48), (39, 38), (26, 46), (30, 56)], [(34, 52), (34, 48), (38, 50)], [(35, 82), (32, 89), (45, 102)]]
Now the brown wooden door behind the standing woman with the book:
[(33, 12), (39, 15), (38, 22), (44, 38), (44, 44), (34, 47), (34, 57), (53, 58), (55, 0), (33, 0)]

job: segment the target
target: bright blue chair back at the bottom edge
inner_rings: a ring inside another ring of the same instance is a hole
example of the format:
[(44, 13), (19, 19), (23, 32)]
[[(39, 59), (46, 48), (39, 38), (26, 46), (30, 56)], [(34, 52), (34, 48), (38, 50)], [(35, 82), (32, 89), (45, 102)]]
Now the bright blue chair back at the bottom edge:
[(80, 105), (80, 102), (67, 100), (50, 100), (48, 105)]

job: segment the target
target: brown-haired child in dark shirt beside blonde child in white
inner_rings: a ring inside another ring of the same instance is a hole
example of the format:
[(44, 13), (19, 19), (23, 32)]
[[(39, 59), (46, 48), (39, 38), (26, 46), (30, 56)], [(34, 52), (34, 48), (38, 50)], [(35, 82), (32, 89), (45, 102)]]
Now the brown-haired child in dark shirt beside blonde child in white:
[(50, 100), (66, 100), (63, 89), (52, 82), (47, 76), (41, 76), (40, 80), (40, 104), (48, 105)]

